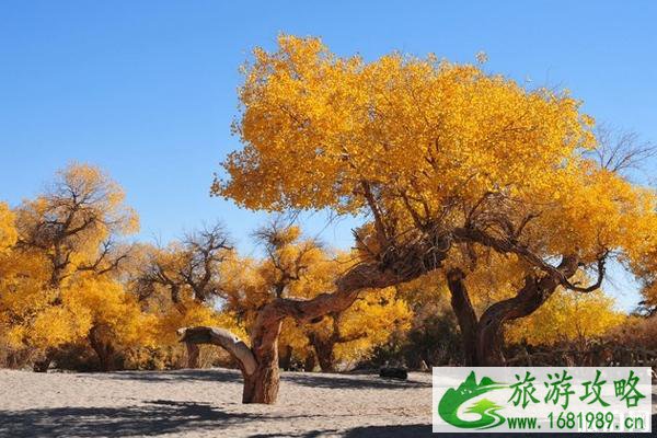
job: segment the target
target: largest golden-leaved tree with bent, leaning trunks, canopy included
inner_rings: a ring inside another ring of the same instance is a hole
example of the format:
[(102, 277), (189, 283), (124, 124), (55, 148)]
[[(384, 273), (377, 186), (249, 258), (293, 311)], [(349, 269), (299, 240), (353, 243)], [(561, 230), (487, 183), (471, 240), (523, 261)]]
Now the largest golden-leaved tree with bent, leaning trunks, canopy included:
[[(240, 101), (234, 131), (243, 149), (224, 161), (215, 194), (251, 209), (368, 218), (357, 234), (361, 263), (334, 293), (263, 310), (251, 339), (256, 357), (245, 355), (255, 364), (246, 387), (258, 383), (245, 400), (276, 397), (269, 351), (281, 320), (315, 319), (349, 307), (364, 289), (436, 269), (446, 269), (463, 304), (474, 362), (504, 364), (506, 323), (533, 313), (558, 287), (598, 289), (610, 258), (632, 258), (657, 234), (655, 192), (587, 157), (598, 146), (593, 119), (565, 91), (529, 90), (435, 56), (366, 62), (318, 38), (283, 35), (276, 50), (254, 50)], [(491, 253), (518, 269), (515, 289), (476, 314), (466, 278), (485, 269)], [(462, 254), (470, 266), (452, 263)], [(581, 272), (590, 284), (578, 283)]]

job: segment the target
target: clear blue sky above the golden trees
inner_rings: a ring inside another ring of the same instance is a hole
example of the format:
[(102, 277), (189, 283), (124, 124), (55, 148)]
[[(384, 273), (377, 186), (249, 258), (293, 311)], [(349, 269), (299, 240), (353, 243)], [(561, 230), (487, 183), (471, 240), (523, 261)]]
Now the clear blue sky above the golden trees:
[[(468, 3), (468, 4), (466, 4)], [(341, 55), (394, 49), (560, 85), (598, 120), (657, 141), (655, 1), (13, 1), (0, 2), (0, 199), (34, 196), (72, 160), (126, 189), (143, 239), (221, 218), (239, 247), (263, 214), (210, 198), (229, 151), (238, 67), (279, 32)], [(655, 168), (653, 172), (657, 174)], [(353, 221), (309, 232), (347, 247)], [(616, 276), (618, 289), (625, 279)], [(636, 301), (616, 290), (623, 307)]]

